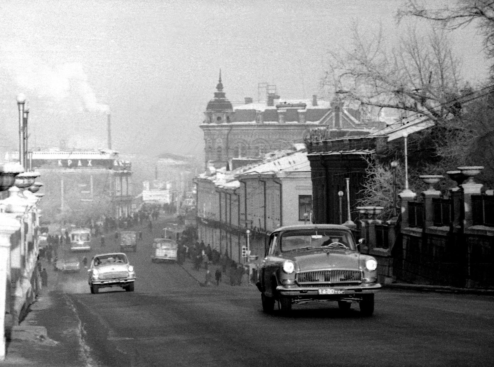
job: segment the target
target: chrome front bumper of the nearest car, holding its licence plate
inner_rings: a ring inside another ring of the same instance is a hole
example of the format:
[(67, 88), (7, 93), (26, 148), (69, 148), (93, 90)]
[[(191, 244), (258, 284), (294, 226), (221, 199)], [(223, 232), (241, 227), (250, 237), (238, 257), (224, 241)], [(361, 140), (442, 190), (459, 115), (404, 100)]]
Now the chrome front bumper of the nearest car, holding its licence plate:
[(375, 293), (382, 286), (379, 283), (369, 285), (345, 285), (345, 286), (285, 286), (278, 285), (277, 292), (285, 297), (297, 298), (334, 298), (335, 296), (359, 296), (361, 294)]

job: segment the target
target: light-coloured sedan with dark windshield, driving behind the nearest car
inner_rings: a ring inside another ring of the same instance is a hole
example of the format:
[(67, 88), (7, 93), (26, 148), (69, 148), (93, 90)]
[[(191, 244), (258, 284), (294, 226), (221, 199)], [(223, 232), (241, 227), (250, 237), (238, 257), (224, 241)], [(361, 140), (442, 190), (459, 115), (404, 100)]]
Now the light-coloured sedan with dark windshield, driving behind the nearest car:
[(120, 286), (128, 292), (134, 291), (135, 270), (123, 252), (95, 255), (87, 269), (91, 293), (100, 288)]

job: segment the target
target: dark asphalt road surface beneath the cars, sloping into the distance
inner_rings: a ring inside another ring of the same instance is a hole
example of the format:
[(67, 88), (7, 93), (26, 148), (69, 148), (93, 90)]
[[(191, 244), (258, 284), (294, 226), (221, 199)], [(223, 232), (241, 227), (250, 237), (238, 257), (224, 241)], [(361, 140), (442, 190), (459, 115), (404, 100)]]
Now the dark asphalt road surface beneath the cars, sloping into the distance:
[(85, 272), (57, 273), (81, 320), (87, 366), (494, 365), (492, 296), (384, 289), (371, 318), (336, 303), (267, 315), (255, 287), (201, 287), (176, 264), (151, 263), (154, 236), (143, 232), (128, 254), (134, 292), (90, 294)]

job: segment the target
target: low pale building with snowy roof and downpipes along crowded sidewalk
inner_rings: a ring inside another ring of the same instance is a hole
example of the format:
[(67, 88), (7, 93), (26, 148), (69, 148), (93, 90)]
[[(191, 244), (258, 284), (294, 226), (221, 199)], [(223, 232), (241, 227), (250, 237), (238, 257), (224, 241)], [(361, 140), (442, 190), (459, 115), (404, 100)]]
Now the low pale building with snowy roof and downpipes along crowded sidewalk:
[(303, 224), (311, 215), (305, 151), (273, 152), (262, 162), (233, 171), (211, 169), (194, 182), (199, 241), (239, 263), (246, 262), (242, 247), (247, 247), (247, 238), (251, 255), (262, 260), (271, 231)]

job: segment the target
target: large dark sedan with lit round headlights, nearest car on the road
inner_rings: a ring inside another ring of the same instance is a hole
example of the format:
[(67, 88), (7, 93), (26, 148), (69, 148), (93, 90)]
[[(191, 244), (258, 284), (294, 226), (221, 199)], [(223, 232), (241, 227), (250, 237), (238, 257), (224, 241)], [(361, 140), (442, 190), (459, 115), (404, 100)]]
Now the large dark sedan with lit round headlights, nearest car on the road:
[(269, 239), (256, 283), (262, 308), (282, 312), (308, 300), (337, 301), (342, 310), (358, 302), (365, 316), (374, 312), (377, 261), (359, 252), (348, 227), (312, 224), (282, 227)]

